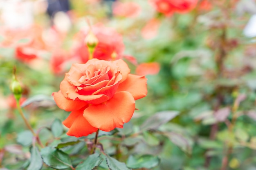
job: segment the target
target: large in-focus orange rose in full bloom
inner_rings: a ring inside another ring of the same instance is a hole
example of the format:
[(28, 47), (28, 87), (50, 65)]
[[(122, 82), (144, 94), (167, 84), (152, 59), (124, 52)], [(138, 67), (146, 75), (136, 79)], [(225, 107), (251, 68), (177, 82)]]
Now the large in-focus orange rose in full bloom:
[(86, 136), (97, 129), (122, 128), (135, 110), (135, 100), (147, 94), (145, 76), (129, 74), (121, 59), (91, 59), (73, 64), (61, 82), (54, 100), (61, 109), (72, 111), (63, 124), (67, 135)]

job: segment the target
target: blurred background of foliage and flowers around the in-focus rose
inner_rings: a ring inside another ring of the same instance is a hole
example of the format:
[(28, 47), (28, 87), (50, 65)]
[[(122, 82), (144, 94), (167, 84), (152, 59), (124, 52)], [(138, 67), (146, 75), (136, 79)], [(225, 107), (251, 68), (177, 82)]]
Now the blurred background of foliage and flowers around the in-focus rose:
[[(255, 0), (0, 0), (0, 169), (25, 169), (29, 158), (29, 147), (6, 149), (26, 129), (13, 66), (33, 128), (64, 120), (51, 95), (72, 63), (88, 61), (89, 30), (99, 39), (94, 58), (124, 59), (148, 78), (128, 126), (144, 132), (127, 135), (124, 155), (159, 156), (153, 170), (256, 170)], [(159, 126), (143, 128), (151, 116)], [(52, 140), (47, 130), (41, 138)]]

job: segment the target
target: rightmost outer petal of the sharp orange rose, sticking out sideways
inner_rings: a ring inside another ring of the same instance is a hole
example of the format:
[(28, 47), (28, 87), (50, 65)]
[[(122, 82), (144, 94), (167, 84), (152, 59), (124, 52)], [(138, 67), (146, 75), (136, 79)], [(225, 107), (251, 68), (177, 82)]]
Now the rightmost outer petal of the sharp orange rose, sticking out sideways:
[(123, 83), (120, 83), (117, 92), (130, 92), (135, 100), (143, 98), (147, 95), (147, 78), (145, 76), (137, 76), (129, 74)]

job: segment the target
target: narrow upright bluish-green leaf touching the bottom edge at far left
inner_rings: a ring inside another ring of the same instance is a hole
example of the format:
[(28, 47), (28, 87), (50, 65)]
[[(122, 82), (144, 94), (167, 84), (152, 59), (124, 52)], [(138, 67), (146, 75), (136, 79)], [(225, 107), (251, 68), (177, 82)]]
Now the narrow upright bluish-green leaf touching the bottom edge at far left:
[(30, 164), (27, 170), (40, 170), (43, 166), (43, 159), (36, 146), (31, 149)]

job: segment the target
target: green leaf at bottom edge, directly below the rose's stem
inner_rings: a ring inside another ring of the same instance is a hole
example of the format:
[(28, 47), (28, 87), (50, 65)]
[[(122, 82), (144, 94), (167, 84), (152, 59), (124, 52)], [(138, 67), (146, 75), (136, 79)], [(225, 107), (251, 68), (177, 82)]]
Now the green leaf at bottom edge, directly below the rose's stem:
[(85, 161), (76, 166), (76, 170), (92, 170), (94, 167), (99, 166), (103, 158), (99, 153), (94, 153), (90, 155)]

